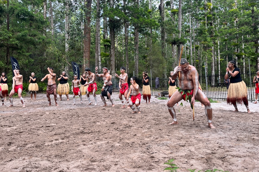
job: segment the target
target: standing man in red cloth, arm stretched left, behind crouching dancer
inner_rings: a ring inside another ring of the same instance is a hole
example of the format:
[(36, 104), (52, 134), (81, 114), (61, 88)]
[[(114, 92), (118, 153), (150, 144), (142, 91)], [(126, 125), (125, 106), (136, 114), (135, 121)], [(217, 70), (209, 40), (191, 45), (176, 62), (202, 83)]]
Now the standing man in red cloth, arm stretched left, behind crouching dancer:
[(128, 107), (130, 108), (129, 101), (127, 100), (127, 95), (128, 95), (128, 89), (129, 89), (129, 84), (128, 84), (128, 74), (125, 73), (126, 68), (125, 67), (120, 67), (120, 76), (118, 74), (115, 74), (116, 77), (120, 78), (119, 81), (119, 88), (120, 88), (120, 93), (119, 93), (119, 98), (122, 103), (122, 107), (120, 108), (125, 108), (125, 104), (122, 98), (122, 95), (124, 95), (124, 98), (127, 101)]

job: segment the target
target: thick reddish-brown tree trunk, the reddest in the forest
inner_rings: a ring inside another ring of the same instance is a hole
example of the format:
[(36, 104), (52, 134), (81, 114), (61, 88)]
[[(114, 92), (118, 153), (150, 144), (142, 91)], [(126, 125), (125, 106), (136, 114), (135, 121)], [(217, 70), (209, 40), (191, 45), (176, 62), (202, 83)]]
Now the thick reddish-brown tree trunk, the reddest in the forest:
[(90, 67), (90, 44), (91, 44), (91, 4), (92, 0), (85, 0), (86, 4), (86, 13), (85, 13), (85, 22), (84, 22), (84, 56), (83, 56), (83, 65), (82, 68)]

